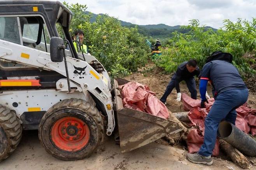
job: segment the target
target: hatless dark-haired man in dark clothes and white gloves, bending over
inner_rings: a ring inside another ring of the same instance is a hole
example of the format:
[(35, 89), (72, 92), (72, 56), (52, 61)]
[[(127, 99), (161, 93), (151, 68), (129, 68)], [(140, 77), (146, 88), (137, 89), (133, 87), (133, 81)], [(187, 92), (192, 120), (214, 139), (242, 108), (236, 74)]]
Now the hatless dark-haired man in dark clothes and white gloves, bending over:
[[(192, 99), (196, 99), (197, 91), (196, 91), (196, 82), (194, 76), (199, 76), (200, 69), (197, 66), (197, 62), (195, 59), (190, 59), (189, 61), (184, 61), (181, 65), (178, 66), (177, 71), (172, 76), (171, 81), (167, 85), (165, 93), (161, 97), (160, 101), (166, 104), (166, 99), (168, 95), (172, 92), (174, 87), (177, 91), (177, 99), (176, 101), (181, 101), (181, 90), (179, 87), (179, 83), (184, 80), (187, 84), (188, 90), (191, 94)], [(207, 97), (209, 95), (207, 94)]]

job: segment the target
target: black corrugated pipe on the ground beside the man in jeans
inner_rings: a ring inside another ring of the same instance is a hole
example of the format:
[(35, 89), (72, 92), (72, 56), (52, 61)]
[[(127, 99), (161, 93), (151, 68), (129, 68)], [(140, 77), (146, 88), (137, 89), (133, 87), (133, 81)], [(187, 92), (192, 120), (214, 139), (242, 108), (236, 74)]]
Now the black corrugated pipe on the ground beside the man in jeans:
[(224, 141), (248, 156), (256, 156), (256, 141), (228, 121), (219, 123), (219, 135)]

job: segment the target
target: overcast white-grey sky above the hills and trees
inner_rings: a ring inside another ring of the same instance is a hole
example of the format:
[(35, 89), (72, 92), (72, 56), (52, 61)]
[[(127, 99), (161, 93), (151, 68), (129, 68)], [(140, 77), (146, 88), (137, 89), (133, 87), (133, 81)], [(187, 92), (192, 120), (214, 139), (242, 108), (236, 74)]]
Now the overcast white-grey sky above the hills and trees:
[[(201, 25), (219, 28), (223, 19), (256, 18), (256, 0), (65, 0), (86, 4), (88, 11), (108, 14), (133, 24)], [(63, 2), (63, 0), (61, 0)]]

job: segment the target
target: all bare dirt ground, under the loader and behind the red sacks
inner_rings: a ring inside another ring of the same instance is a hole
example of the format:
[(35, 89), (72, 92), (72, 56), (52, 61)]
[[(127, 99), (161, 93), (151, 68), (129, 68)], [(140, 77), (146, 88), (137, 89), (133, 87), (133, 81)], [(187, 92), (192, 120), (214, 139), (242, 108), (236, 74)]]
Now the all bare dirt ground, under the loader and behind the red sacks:
[[(171, 75), (164, 75), (160, 69), (154, 69), (153, 64), (125, 77), (127, 80), (148, 85), (151, 91), (156, 92), (160, 99)], [(153, 68), (153, 69), (152, 69)], [(181, 83), (181, 92), (188, 93), (185, 83)], [(197, 86), (198, 87), (198, 86)], [(210, 86), (208, 87), (210, 94)], [(200, 95), (198, 95), (198, 99)], [(170, 111), (182, 111), (182, 103), (176, 102), (176, 91), (167, 99), (167, 108)], [(256, 108), (256, 95), (250, 92), (248, 103)], [(128, 153), (121, 153), (114, 142), (114, 137), (107, 137), (102, 147), (89, 158), (77, 161), (62, 161), (54, 158), (44, 150), (38, 139), (38, 131), (25, 131), (18, 148), (6, 160), (0, 163), (0, 170), (239, 170), (240, 168), (228, 160), (222, 153), (213, 158), (212, 166), (197, 165), (186, 160), (186, 147), (168, 146), (165, 141), (157, 141)], [(252, 160), (255, 161), (255, 160)], [(255, 169), (256, 167), (252, 167)]]

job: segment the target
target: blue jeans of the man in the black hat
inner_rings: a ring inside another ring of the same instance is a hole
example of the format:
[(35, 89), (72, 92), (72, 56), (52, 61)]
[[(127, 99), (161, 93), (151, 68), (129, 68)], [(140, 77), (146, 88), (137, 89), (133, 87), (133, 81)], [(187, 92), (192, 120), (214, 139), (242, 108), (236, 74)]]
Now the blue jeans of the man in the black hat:
[(222, 120), (229, 121), (235, 125), (237, 118), (237, 109), (242, 106), (248, 99), (248, 89), (243, 90), (228, 90), (219, 94), (210, 112), (205, 118), (205, 133), (203, 138), (203, 145), (199, 150), (202, 156), (210, 156), (214, 149), (217, 129)]

